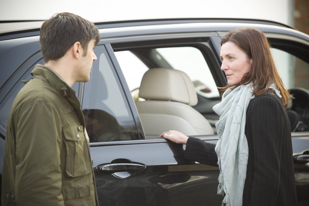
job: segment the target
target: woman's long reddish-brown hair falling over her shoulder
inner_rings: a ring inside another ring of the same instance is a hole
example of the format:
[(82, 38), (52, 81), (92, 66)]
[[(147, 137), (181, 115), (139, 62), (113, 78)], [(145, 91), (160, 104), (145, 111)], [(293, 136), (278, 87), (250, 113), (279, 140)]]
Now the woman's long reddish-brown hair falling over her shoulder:
[[(252, 68), (236, 86), (253, 82), (253, 94), (260, 95), (267, 92), (269, 86), (274, 83), (280, 91), (283, 105), (288, 107), (290, 94), (278, 74), (265, 34), (251, 27), (237, 28), (222, 38), (221, 46), (226, 42), (234, 43), (246, 53), (248, 59), (252, 59)], [(230, 87), (231, 85), (226, 85), (219, 87), (219, 89), (225, 91)]]

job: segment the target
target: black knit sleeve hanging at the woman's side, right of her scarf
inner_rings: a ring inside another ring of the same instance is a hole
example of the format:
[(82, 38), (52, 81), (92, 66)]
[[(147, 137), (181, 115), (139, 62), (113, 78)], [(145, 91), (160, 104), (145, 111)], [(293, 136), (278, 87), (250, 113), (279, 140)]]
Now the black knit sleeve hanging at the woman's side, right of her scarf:
[(254, 169), (250, 205), (275, 205), (279, 181), (283, 131), (281, 105), (272, 97), (252, 104), (250, 127)]

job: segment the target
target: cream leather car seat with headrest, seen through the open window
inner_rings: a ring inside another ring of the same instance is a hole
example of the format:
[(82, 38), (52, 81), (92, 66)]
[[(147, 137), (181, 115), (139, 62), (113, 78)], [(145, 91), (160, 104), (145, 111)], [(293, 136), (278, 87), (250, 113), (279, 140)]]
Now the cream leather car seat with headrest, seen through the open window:
[(214, 134), (210, 123), (192, 106), (197, 104), (194, 85), (187, 74), (167, 68), (149, 69), (143, 76), (136, 102), (147, 138), (168, 130), (183, 134)]

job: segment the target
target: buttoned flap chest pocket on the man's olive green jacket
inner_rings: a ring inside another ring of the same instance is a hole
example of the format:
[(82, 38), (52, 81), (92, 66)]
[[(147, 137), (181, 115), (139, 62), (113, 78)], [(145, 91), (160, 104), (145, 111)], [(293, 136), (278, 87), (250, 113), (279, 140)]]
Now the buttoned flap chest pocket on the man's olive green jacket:
[(83, 126), (73, 125), (63, 129), (66, 146), (66, 174), (78, 177), (91, 172), (92, 166)]

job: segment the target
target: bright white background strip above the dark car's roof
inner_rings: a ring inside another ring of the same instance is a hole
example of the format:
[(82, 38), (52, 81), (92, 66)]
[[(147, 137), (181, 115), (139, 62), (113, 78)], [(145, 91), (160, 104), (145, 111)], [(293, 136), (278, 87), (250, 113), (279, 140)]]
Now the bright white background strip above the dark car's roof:
[[(0, 20), (46, 20), (71, 12), (93, 21), (249, 18), (293, 24), (293, 0), (0, 0)], [(293, 26), (293, 25), (291, 25)]]

